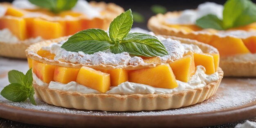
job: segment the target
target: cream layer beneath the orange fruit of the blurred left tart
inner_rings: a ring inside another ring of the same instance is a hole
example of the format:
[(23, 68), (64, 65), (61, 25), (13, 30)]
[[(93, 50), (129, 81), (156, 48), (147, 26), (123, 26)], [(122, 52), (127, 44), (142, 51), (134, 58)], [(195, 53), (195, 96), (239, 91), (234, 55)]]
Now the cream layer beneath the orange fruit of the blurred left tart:
[[(22, 40), (22, 42), (31, 44), (31, 43), (38, 43), (42, 40), (43, 40), (43, 38), (38, 36), (36, 38), (28, 38), (26, 40)], [(18, 37), (13, 35), (9, 29), (6, 28), (6, 29), (0, 30), (0, 42), (18, 43), (18, 42), (20, 42), (20, 40), (18, 39)]]

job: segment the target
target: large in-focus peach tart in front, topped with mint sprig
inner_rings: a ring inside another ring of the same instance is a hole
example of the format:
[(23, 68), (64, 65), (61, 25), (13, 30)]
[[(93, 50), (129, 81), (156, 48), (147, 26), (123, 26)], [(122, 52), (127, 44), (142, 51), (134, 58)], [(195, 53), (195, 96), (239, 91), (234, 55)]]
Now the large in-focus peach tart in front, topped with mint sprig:
[(216, 93), (223, 72), (214, 47), (153, 33), (128, 33), (128, 10), (107, 32), (88, 29), (27, 50), (36, 96), (65, 108), (140, 111), (180, 108)]

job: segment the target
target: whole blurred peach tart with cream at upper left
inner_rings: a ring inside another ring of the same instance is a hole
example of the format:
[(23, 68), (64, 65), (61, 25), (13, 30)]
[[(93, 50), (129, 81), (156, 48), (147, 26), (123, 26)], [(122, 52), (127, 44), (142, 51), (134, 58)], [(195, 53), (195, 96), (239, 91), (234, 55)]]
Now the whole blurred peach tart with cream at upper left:
[(43, 9), (28, 0), (0, 3), (0, 56), (26, 58), (25, 49), (33, 43), (84, 29), (106, 30), (110, 22), (124, 12), (113, 3), (76, 1), (63, 0), (64, 5), (74, 5), (63, 10)]

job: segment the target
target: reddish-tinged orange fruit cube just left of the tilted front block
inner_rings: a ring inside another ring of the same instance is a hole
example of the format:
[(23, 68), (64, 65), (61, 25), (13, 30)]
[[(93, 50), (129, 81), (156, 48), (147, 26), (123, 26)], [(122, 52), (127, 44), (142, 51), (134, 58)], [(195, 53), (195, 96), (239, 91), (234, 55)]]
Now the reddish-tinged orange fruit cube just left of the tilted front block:
[(79, 72), (78, 68), (69, 68), (69, 67), (55, 67), (54, 70), (54, 81), (60, 83), (69, 83), (71, 81), (76, 81), (77, 74)]

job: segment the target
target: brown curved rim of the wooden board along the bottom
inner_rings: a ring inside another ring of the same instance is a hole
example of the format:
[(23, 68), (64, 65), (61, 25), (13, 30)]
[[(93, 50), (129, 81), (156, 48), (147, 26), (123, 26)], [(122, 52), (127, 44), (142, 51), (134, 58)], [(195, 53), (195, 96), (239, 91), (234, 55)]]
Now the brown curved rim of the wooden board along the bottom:
[[(76, 115), (44, 112), (0, 103), (0, 117), (26, 124), (52, 127), (177, 127), (195, 128), (227, 124), (256, 116), (256, 101), (226, 110), (185, 115)], [(99, 123), (101, 122), (101, 123)]]

